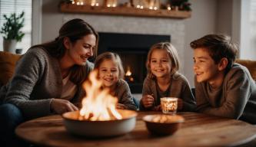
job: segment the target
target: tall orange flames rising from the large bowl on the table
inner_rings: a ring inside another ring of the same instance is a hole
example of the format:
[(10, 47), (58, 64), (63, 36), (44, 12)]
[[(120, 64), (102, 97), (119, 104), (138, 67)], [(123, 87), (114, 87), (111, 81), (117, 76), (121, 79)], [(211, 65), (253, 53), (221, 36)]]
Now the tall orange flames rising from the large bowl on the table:
[(110, 120), (121, 119), (121, 114), (115, 108), (118, 98), (111, 96), (108, 89), (101, 89), (102, 81), (97, 79), (97, 70), (91, 71), (89, 79), (83, 83), (86, 96), (81, 101), (79, 119)]

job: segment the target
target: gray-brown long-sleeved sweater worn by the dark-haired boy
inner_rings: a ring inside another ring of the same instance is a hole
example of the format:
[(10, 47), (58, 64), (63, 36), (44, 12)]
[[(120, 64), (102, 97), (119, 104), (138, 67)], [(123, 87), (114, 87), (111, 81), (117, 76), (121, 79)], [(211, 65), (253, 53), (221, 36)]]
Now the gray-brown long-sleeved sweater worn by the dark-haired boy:
[(256, 123), (256, 84), (246, 67), (234, 64), (218, 90), (194, 83), (198, 112)]

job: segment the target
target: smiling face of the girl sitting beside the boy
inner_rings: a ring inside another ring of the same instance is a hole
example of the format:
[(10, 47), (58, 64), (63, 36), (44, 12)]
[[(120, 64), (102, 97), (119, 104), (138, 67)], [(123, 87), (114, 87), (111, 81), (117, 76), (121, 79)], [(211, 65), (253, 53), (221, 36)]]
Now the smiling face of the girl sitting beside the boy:
[(155, 49), (152, 51), (150, 58), (151, 73), (156, 78), (170, 77), (171, 75), (171, 59), (168, 56), (168, 51)]

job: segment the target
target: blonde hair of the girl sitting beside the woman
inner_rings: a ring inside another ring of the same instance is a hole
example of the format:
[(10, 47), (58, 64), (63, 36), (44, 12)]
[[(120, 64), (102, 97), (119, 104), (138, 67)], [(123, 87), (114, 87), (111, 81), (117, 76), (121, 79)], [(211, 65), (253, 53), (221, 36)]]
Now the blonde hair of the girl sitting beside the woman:
[(119, 57), (118, 54), (111, 53), (111, 52), (105, 52), (105, 53), (98, 55), (98, 57), (96, 57), (96, 60), (95, 60), (95, 69), (98, 70), (101, 63), (105, 60), (113, 60), (115, 62), (115, 64), (118, 65), (118, 70), (119, 70), (118, 78), (124, 79), (125, 71), (124, 71), (124, 67), (121, 63), (121, 58)]

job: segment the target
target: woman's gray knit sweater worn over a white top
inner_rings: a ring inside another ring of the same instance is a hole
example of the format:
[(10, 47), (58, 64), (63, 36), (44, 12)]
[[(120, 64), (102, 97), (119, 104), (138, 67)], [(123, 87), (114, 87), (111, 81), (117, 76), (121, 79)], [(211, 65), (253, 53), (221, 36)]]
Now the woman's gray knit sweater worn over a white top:
[[(93, 68), (85, 65), (86, 76)], [(78, 103), (81, 87), (72, 103)], [(1, 88), (0, 102), (12, 103), (22, 110), (26, 119), (51, 114), (50, 104), (53, 98), (62, 95), (62, 73), (58, 60), (42, 48), (31, 48), (18, 61), (12, 79)]]

